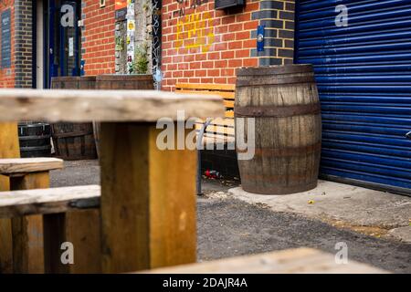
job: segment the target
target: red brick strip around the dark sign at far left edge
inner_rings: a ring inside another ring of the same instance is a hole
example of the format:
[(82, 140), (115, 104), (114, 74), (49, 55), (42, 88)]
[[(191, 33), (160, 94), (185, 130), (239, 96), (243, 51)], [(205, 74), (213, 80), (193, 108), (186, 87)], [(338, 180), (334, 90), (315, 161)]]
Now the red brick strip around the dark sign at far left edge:
[[(12, 33), (12, 66), (11, 68), (0, 68), (0, 89), (13, 89), (15, 87), (15, 1), (0, 1), (0, 14), (6, 9), (11, 9), (11, 33)], [(1, 23), (0, 23), (1, 26)], [(1, 44), (0, 44), (1, 49)]]

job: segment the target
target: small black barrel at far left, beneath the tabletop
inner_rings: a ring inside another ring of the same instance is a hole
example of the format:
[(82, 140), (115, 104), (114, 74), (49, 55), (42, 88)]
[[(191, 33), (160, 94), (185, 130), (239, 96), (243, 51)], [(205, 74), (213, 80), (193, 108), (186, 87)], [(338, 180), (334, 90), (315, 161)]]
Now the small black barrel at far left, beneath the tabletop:
[(51, 155), (51, 128), (44, 122), (18, 123), (20, 157), (49, 157)]

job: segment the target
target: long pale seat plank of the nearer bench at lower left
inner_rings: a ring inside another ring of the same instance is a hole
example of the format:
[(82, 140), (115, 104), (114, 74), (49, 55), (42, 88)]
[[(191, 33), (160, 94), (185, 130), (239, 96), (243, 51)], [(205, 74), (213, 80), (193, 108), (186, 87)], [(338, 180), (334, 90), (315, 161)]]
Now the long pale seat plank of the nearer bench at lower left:
[(56, 214), (100, 206), (100, 186), (84, 185), (0, 193), (0, 218)]

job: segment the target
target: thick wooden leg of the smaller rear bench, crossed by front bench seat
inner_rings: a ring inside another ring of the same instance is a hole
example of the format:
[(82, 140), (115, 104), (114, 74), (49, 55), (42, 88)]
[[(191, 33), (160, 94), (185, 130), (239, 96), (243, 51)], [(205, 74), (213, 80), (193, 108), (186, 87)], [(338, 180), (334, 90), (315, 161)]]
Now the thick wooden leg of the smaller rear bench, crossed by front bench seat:
[[(11, 189), (31, 190), (50, 186), (48, 172), (12, 177)], [(44, 273), (43, 217), (31, 215), (12, 219), (13, 268), (15, 274)]]

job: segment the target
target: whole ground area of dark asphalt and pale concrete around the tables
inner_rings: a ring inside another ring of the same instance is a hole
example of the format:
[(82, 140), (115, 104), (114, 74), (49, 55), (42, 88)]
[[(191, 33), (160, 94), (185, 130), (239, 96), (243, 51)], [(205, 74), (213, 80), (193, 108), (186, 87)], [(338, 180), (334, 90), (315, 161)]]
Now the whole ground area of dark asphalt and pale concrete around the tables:
[[(98, 162), (65, 164), (51, 173), (52, 186), (100, 183)], [(203, 183), (205, 195), (197, 200), (199, 261), (298, 246), (335, 254), (335, 245), (344, 242), (349, 259), (411, 273), (411, 244), (405, 242), (409, 197), (329, 182), (300, 196), (258, 196), (236, 186)]]

